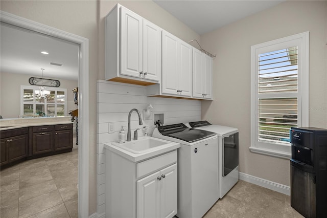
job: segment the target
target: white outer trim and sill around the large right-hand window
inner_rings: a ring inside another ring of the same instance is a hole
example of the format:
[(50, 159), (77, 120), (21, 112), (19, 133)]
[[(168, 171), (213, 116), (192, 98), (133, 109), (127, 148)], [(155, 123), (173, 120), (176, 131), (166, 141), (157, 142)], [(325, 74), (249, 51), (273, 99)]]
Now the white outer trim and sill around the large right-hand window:
[[(269, 146), (260, 146), (258, 145), (258, 139), (256, 139), (256, 92), (258, 92), (257, 88), (257, 78), (256, 78), (256, 64), (255, 59), (256, 51), (258, 49), (264, 49), (265, 47), (270, 47), (273, 45), (278, 45), (285, 43), (287, 41), (291, 40), (300, 40), (300, 47), (302, 59), (300, 61), (299, 68), (301, 71), (301, 78), (298, 80), (298, 86), (300, 87), (300, 92), (298, 93), (298, 104), (301, 106), (299, 107), (299, 111), (301, 114), (301, 117), (299, 118), (301, 120), (301, 126), (309, 126), (309, 32), (299, 33), (296, 35), (284, 37), (281, 39), (276, 39), (268, 42), (264, 42), (255, 46), (251, 46), (251, 138), (250, 138), (250, 151), (278, 157), (278, 158), (284, 158), (284, 159), (290, 159), (291, 158), (291, 145), (288, 146), (281, 146), (279, 148), (273, 147), (273, 145)], [(277, 49), (276, 49), (277, 50)], [(268, 143), (267, 143), (268, 144)]]

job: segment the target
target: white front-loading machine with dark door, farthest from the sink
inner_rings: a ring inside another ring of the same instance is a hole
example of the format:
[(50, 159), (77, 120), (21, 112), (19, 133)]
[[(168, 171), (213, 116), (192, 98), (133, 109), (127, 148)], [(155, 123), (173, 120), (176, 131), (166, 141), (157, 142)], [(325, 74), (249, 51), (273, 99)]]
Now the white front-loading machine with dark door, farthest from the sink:
[(190, 122), (186, 126), (218, 135), (218, 184), (221, 199), (239, 181), (239, 130), (212, 125), (207, 121)]

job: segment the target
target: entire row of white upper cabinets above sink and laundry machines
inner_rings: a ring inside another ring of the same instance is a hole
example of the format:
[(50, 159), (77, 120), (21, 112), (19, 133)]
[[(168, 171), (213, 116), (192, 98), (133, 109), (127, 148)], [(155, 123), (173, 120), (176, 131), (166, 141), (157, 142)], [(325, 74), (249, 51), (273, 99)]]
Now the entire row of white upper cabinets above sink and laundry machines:
[(117, 4), (105, 18), (105, 79), (148, 96), (213, 99), (213, 58)]

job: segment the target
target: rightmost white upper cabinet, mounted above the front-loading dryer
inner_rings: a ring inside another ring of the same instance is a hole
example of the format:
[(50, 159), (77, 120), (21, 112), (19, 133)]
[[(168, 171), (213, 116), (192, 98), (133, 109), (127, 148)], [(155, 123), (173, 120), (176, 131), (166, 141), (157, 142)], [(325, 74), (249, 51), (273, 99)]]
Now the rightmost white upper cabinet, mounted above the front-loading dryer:
[(193, 48), (193, 97), (213, 99), (213, 58)]

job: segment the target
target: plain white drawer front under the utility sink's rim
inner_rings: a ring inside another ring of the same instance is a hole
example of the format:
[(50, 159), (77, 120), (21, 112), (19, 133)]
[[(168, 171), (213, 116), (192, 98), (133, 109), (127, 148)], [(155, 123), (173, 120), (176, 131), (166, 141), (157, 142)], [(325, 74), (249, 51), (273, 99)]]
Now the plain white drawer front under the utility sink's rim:
[(177, 150), (136, 164), (136, 177), (143, 177), (177, 162)]

